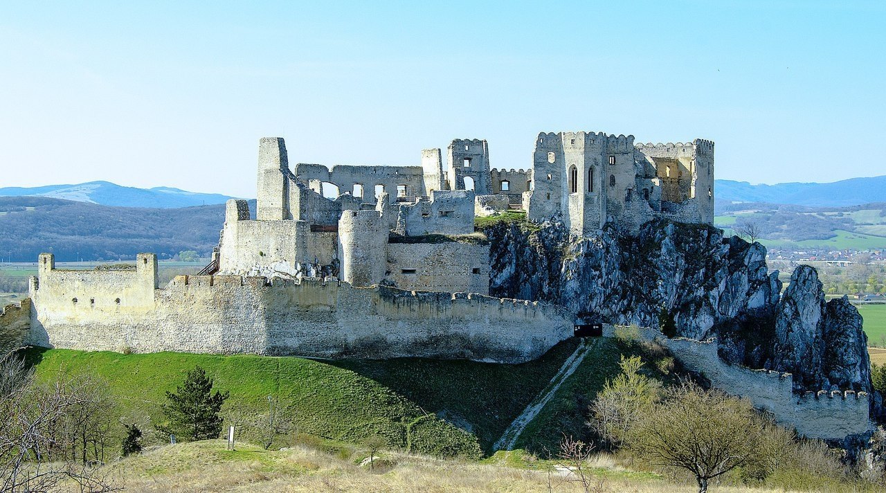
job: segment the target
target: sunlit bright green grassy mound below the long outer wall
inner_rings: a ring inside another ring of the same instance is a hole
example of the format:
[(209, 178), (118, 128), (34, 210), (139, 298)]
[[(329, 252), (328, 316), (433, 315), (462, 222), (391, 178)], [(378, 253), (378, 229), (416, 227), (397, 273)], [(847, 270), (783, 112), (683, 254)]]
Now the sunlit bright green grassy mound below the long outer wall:
[(67, 349), (30, 349), (38, 379), (54, 372), (90, 372), (119, 403), (120, 416), (160, 416), (165, 392), (199, 365), (215, 387), (229, 391), (226, 405), (260, 413), (268, 396), (292, 416), (301, 434), (360, 442), (379, 434), (389, 446), (417, 453), (478, 458), (477, 438), (423, 411), (388, 387), (333, 364), (297, 357), (211, 356), (183, 353), (123, 355)]

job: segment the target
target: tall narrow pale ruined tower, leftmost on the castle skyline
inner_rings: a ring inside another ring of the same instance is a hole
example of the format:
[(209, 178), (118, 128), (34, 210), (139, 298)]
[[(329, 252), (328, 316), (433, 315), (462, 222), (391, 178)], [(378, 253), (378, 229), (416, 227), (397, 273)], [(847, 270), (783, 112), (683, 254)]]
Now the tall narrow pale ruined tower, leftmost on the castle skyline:
[(261, 137), (256, 219), (281, 221), (292, 218), (289, 209), (289, 173), (284, 139)]

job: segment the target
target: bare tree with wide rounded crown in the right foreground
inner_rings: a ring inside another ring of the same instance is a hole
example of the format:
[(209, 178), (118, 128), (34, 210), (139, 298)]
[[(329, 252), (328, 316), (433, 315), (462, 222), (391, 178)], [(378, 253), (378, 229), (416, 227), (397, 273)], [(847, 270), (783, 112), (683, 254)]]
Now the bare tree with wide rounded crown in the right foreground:
[(699, 493), (711, 479), (756, 463), (766, 433), (746, 399), (688, 382), (669, 389), (636, 428), (629, 448), (651, 464), (692, 473)]

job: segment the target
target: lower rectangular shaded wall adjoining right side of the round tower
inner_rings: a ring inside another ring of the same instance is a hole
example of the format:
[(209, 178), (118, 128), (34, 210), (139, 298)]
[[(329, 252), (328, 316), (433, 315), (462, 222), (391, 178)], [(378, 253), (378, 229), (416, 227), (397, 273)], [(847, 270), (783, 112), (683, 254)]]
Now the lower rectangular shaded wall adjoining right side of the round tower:
[(390, 243), (387, 279), (400, 289), (444, 293), (489, 293), (489, 246)]

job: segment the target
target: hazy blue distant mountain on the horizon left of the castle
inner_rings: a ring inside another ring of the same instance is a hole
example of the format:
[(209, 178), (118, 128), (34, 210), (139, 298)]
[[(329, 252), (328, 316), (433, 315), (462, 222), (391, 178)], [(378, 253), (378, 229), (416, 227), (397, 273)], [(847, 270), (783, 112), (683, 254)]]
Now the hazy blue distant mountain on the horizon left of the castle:
[(74, 200), (103, 206), (154, 208), (208, 206), (223, 204), (230, 199), (219, 193), (186, 192), (165, 186), (144, 189), (110, 182), (0, 188), (0, 197), (23, 196)]

